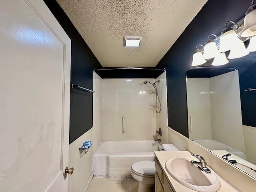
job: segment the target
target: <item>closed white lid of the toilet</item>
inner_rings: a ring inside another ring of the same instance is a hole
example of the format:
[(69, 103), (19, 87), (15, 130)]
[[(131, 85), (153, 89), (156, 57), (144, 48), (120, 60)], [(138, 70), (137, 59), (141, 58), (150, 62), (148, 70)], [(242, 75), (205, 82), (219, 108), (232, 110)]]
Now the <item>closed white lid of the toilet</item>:
[(132, 164), (132, 170), (143, 175), (154, 175), (156, 172), (154, 161), (139, 161)]

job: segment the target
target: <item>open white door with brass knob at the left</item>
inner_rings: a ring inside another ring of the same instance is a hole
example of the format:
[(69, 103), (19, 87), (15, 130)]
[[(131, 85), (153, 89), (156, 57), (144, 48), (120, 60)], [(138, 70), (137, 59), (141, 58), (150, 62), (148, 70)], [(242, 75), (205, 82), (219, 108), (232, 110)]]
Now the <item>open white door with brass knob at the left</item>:
[(0, 0), (0, 191), (66, 192), (71, 42), (43, 0)]

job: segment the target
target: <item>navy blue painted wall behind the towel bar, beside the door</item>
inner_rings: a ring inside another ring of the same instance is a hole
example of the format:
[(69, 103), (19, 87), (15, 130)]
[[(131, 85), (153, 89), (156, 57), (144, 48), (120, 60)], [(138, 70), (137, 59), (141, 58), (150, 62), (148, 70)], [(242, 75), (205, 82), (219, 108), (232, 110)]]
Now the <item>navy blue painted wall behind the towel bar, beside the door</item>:
[[(55, 0), (44, 0), (44, 2), (71, 39), (71, 83), (93, 90), (93, 70), (102, 67), (100, 62), (58, 3)], [(69, 143), (90, 128), (92, 128), (92, 94), (71, 89)]]

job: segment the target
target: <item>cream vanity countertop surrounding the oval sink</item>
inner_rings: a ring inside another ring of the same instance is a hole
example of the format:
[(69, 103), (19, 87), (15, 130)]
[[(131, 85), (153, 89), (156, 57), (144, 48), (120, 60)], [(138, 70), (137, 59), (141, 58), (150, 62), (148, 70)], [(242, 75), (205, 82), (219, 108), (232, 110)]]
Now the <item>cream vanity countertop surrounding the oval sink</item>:
[[(172, 185), (173, 189), (176, 192), (195, 192), (194, 190), (187, 188), (186, 186), (183, 186), (182, 184), (180, 184), (179, 182), (177, 182), (176, 180), (174, 180), (174, 178), (172, 178), (172, 176), (170, 176), (168, 174), (168, 172), (166, 171), (165, 168), (165, 162), (166, 160), (168, 160), (169, 158), (172, 157), (185, 157), (185, 158), (191, 158), (191, 160), (194, 160), (194, 158), (191, 156), (191, 153), (188, 151), (157, 151), (154, 152), (156, 159), (158, 160), (162, 170), (164, 170), (164, 174), (166, 175), (166, 178), (168, 179), (168, 182), (170, 185)], [(210, 167), (210, 166), (209, 166)], [(217, 174), (219, 180), (220, 180), (220, 184), (221, 187), (218, 190), (218, 192), (238, 192), (238, 190), (236, 190), (234, 187), (232, 187), (228, 182), (226, 182), (224, 179), (222, 179), (218, 174)]]

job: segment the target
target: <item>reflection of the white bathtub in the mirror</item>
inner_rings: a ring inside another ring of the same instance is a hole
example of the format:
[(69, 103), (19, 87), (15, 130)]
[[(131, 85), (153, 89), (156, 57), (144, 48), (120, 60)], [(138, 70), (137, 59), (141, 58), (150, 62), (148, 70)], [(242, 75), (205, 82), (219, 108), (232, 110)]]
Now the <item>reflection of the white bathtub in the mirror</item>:
[(235, 148), (232, 148), (228, 145), (225, 145), (221, 142), (218, 142), (213, 139), (193, 139), (194, 142), (200, 144), (201, 146), (205, 147), (206, 149), (212, 151), (212, 150), (226, 150), (240, 158), (243, 158), (246, 160), (246, 156), (244, 152), (237, 150)]

